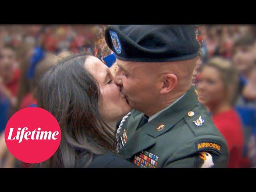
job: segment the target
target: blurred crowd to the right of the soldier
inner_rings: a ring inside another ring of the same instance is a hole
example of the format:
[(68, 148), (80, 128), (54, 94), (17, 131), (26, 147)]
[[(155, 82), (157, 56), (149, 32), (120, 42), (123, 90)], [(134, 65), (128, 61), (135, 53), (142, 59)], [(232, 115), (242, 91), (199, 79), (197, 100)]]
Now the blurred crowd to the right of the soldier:
[[(192, 84), (199, 101), (228, 143), (229, 166), (256, 167), (256, 28), (204, 25), (195, 29), (201, 59)], [(235, 160), (239, 162), (232, 166)]]

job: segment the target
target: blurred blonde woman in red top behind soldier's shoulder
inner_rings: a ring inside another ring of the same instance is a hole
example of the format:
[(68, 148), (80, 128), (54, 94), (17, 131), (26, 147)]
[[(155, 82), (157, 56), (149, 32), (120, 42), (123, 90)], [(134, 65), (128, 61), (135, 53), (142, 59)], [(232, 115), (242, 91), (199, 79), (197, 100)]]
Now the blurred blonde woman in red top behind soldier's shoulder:
[(198, 98), (209, 108), (215, 126), (227, 141), (230, 152), (228, 168), (238, 168), (242, 159), (242, 125), (232, 104), (238, 76), (232, 64), (212, 58), (202, 68)]

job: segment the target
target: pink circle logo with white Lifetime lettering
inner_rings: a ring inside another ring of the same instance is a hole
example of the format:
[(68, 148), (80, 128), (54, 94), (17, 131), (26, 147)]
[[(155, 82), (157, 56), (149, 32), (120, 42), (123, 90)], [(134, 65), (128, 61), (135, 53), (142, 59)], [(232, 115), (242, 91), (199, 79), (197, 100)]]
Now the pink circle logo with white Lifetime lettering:
[(28, 107), (16, 112), (8, 121), (5, 142), (10, 153), (25, 163), (49, 159), (60, 145), (60, 125), (48, 111)]

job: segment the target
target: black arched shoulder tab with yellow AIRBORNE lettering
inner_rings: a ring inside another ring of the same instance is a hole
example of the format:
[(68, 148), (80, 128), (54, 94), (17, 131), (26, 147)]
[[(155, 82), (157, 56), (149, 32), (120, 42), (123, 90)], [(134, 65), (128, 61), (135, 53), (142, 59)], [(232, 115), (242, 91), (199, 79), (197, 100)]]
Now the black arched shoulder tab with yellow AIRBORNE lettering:
[(197, 141), (195, 145), (196, 145), (196, 150), (198, 152), (209, 150), (209, 151), (213, 151), (213, 152), (217, 152), (218, 154), (221, 154), (222, 145), (219, 142), (212, 141), (212, 140), (201, 140), (201, 141)]

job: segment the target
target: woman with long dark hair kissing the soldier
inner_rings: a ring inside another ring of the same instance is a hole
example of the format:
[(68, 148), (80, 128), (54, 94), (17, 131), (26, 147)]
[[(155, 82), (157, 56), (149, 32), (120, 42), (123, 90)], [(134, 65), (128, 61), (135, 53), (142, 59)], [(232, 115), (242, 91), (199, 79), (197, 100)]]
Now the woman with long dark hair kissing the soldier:
[(130, 111), (109, 68), (87, 53), (57, 62), (38, 86), (38, 106), (58, 120), (61, 143), (39, 167), (135, 167), (115, 153), (117, 122)]

